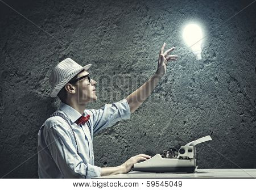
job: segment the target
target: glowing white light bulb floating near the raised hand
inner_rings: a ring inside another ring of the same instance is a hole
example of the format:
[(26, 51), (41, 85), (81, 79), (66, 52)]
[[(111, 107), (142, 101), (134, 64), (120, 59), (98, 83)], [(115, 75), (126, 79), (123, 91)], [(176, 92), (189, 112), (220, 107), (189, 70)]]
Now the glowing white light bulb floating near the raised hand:
[(197, 24), (188, 24), (183, 30), (183, 39), (189, 48), (192, 49), (196, 60), (201, 60), (201, 44), (203, 39), (203, 32)]

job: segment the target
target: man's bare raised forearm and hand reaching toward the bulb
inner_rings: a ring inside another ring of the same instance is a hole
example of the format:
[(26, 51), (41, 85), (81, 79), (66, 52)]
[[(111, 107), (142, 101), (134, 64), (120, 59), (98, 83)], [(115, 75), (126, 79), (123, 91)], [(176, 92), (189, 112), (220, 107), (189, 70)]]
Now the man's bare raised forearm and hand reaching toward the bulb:
[(141, 104), (148, 98), (148, 96), (152, 93), (155, 89), (156, 85), (158, 85), (159, 80), (163, 77), (166, 73), (166, 65), (170, 60), (177, 60), (177, 56), (175, 55), (168, 55), (174, 47), (168, 49), (164, 52), (164, 47), (166, 43), (163, 44), (162, 48), (160, 49), (159, 57), (158, 57), (158, 69), (156, 70), (155, 74), (148, 79), (141, 87), (127, 96), (126, 100), (129, 103), (131, 113), (135, 112)]

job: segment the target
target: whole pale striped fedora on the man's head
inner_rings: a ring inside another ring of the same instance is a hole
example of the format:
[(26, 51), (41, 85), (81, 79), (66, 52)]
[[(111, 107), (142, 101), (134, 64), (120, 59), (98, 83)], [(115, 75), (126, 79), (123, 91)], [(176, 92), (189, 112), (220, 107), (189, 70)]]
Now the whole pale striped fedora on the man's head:
[(52, 87), (51, 98), (56, 98), (60, 90), (82, 70), (88, 70), (92, 64), (81, 66), (71, 58), (61, 61), (51, 73), (49, 83)]

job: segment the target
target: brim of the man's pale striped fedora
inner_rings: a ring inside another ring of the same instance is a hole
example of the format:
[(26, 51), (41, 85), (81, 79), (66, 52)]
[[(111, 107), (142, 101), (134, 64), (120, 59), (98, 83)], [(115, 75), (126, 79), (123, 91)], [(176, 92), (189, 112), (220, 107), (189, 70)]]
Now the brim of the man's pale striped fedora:
[(57, 84), (52, 90), (51, 90), (51, 98), (56, 98), (59, 94), (60, 90), (70, 81), (72, 78), (74, 78), (77, 74), (79, 74), (82, 70), (88, 70), (92, 66), (92, 64), (85, 65), (84, 67), (81, 67), (81, 69), (78, 69), (74, 71), (72, 74), (68, 75), (67, 78), (63, 79), (59, 84)]

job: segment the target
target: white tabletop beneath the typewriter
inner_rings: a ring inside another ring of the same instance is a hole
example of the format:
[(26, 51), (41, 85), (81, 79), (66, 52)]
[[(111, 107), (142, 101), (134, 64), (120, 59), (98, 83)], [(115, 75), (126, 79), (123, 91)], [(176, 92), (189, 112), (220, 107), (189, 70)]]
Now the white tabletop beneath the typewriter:
[(256, 169), (197, 169), (191, 174), (131, 171), (128, 174), (109, 175), (101, 178), (256, 178)]

